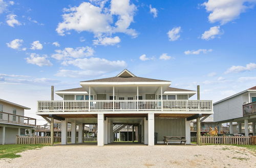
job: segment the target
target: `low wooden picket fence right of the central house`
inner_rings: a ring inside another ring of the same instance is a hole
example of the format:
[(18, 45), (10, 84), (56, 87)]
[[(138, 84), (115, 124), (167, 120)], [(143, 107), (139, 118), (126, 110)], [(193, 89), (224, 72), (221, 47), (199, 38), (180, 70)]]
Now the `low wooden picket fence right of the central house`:
[(256, 136), (201, 136), (202, 144), (253, 145)]

